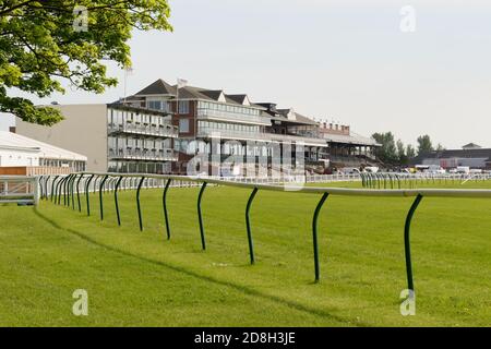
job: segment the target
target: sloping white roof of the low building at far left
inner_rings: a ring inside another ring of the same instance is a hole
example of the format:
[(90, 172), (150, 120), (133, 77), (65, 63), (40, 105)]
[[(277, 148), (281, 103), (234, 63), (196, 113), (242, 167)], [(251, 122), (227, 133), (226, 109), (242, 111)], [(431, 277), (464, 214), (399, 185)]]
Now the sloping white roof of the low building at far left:
[(10, 149), (37, 151), (40, 157), (47, 159), (87, 161), (87, 157), (84, 155), (7, 131), (0, 131), (0, 146)]

